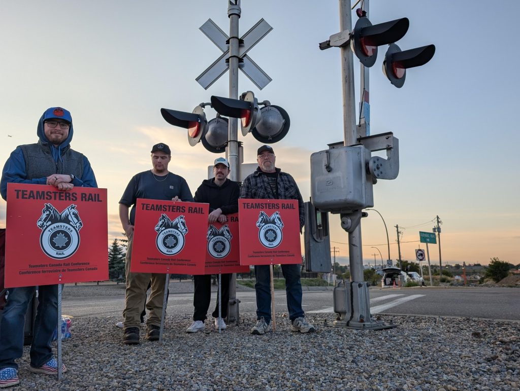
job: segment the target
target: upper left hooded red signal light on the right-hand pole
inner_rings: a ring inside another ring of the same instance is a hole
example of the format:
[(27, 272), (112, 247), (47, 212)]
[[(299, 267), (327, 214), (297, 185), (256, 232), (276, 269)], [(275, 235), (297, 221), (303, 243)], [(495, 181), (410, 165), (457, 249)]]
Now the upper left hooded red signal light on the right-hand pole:
[(367, 17), (359, 18), (350, 36), (350, 46), (361, 63), (374, 65), (378, 57), (378, 46), (399, 41), (408, 31), (408, 18), (372, 24)]

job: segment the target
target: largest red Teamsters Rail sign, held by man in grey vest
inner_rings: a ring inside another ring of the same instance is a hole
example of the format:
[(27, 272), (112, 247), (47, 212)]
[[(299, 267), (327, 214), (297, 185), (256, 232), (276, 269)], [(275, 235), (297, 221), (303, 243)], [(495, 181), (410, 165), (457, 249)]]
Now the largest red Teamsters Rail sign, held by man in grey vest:
[(5, 286), (108, 279), (107, 189), (7, 184)]

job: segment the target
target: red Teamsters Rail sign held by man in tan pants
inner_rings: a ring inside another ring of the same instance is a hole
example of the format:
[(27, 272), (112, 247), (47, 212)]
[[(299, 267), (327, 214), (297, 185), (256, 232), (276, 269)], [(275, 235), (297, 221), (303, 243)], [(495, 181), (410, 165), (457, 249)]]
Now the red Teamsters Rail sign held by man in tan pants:
[(138, 198), (132, 273), (204, 274), (209, 204)]

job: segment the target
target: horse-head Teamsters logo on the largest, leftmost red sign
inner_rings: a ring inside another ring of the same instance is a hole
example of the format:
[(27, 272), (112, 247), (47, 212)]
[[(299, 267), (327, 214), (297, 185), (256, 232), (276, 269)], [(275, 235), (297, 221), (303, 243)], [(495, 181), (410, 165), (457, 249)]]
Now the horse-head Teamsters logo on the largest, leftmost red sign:
[(40, 246), (50, 258), (69, 258), (80, 247), (83, 222), (74, 204), (61, 213), (53, 205), (45, 204), (36, 225), (42, 230)]

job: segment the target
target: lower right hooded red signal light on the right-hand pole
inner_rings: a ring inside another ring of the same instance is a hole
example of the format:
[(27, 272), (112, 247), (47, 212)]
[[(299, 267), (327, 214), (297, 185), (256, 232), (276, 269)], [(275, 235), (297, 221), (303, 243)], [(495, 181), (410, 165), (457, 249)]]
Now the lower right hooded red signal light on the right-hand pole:
[(421, 66), (430, 61), (435, 54), (435, 45), (401, 51), (399, 46), (388, 47), (383, 61), (383, 73), (397, 88), (405, 84), (406, 70)]

